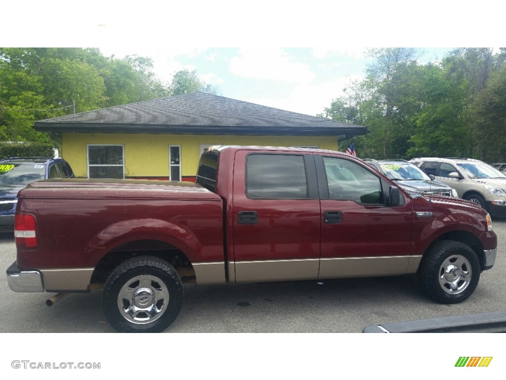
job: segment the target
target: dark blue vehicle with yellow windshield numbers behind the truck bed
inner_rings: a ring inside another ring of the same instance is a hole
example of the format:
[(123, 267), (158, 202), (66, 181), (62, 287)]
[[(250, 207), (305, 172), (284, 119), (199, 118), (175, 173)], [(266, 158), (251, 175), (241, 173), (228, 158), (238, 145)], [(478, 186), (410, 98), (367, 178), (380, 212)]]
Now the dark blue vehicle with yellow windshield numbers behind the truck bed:
[(27, 184), (48, 178), (73, 178), (70, 165), (61, 158), (13, 157), (0, 160), (0, 232), (14, 230), (18, 192)]

